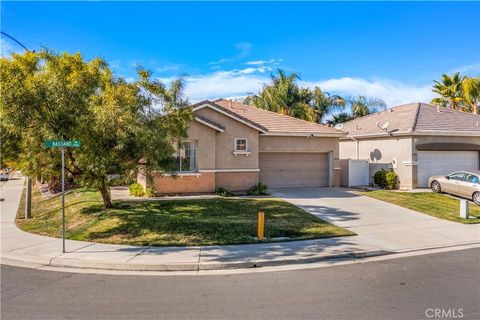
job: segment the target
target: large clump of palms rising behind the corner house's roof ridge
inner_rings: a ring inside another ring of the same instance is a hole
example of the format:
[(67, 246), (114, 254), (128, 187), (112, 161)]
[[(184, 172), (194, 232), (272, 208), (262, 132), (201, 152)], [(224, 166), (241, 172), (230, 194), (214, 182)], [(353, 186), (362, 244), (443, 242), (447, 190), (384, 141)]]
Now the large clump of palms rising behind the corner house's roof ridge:
[(297, 73), (287, 75), (278, 69), (276, 75), (271, 75), (271, 83), (265, 84), (258, 95), (249, 95), (243, 103), (318, 123), (333, 109), (344, 105), (343, 98), (318, 87), (313, 90), (299, 87), (298, 79)]

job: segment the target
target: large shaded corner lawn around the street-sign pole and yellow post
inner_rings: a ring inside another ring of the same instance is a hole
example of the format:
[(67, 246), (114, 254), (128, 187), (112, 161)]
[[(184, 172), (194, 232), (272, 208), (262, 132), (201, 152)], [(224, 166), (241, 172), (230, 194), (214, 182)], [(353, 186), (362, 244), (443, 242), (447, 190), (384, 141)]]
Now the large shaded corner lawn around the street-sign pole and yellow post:
[[(115, 201), (113, 209), (103, 210), (98, 192), (77, 189), (66, 195), (65, 202), (69, 239), (151, 246), (256, 243), (259, 209), (265, 212), (266, 241), (353, 234), (274, 198)], [(32, 214), (32, 219), (17, 219), (19, 228), (61, 237), (61, 197), (45, 199), (35, 190)]]

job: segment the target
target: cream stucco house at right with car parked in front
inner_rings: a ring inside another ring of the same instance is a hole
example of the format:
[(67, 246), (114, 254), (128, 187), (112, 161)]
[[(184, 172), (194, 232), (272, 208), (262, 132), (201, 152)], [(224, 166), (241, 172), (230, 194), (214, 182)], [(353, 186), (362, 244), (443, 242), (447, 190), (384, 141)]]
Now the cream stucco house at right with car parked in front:
[(391, 168), (400, 189), (428, 187), (433, 175), (479, 169), (479, 121), (423, 103), (394, 107), (344, 123), (340, 159), (369, 160), (370, 177)]

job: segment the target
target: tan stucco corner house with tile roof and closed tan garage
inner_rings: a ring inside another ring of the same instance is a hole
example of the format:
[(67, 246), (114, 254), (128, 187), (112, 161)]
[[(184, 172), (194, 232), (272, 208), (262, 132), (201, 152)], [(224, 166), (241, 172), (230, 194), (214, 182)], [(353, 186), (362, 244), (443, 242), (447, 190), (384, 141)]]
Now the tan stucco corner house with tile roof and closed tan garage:
[[(339, 185), (339, 138), (334, 128), (230, 100), (193, 106), (195, 121), (177, 153), (178, 173), (154, 173), (159, 193), (213, 192)], [(143, 171), (139, 182), (146, 185)]]

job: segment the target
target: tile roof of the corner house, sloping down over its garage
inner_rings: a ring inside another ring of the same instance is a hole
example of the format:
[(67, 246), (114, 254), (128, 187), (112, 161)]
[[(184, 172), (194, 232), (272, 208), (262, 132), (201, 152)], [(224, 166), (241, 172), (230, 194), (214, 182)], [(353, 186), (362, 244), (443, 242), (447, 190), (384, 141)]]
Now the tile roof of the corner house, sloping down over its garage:
[(336, 130), (327, 125), (313, 123), (294, 117), (286, 116), (255, 107), (250, 107), (239, 102), (218, 99), (215, 101), (202, 101), (194, 105), (211, 104), (222, 111), (232, 114), (243, 121), (257, 126), (266, 133), (290, 133), (290, 134), (332, 134), (342, 135), (342, 131)]

